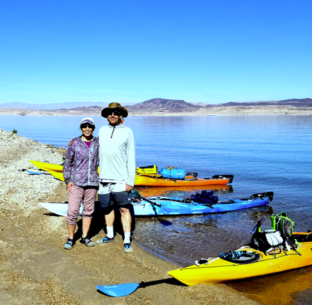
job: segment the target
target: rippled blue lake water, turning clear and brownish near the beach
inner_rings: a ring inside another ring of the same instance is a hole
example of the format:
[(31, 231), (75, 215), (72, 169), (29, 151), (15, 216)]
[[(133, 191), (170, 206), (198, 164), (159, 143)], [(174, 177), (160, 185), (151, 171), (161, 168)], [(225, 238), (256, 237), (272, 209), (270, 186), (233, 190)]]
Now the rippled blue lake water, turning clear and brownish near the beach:
[[(9, 131), (15, 128), (24, 137), (60, 147), (80, 135), (81, 119), (0, 116), (0, 128)], [(100, 116), (94, 117), (94, 121), (96, 131), (106, 124)], [(232, 186), (214, 188), (219, 198), (249, 197), (263, 191), (275, 193), (268, 207), (166, 217), (172, 223), (168, 226), (157, 218), (139, 218), (136, 241), (151, 252), (189, 265), (197, 259), (235, 250), (249, 241), (257, 218), (267, 213), (286, 211), (297, 224), (296, 231), (312, 229), (312, 116), (130, 116), (125, 125), (135, 134), (137, 166), (175, 166), (197, 172), (199, 177), (234, 175)], [(200, 190), (140, 188), (139, 191), (142, 195), (185, 198)], [(293, 287), (294, 278), (309, 284), (284, 289)], [(263, 304), (312, 303), (306, 301), (312, 299), (311, 268), (229, 286)], [(277, 294), (282, 295), (279, 301), (273, 297)]]

